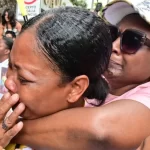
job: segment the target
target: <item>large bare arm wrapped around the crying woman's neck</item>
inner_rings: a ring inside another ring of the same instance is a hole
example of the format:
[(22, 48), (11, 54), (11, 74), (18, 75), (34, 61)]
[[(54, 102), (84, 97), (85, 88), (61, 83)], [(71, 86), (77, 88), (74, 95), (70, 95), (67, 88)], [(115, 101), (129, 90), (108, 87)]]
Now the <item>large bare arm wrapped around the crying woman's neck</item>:
[(125, 150), (137, 148), (148, 135), (149, 109), (136, 101), (120, 100), (25, 121), (15, 141), (37, 149)]

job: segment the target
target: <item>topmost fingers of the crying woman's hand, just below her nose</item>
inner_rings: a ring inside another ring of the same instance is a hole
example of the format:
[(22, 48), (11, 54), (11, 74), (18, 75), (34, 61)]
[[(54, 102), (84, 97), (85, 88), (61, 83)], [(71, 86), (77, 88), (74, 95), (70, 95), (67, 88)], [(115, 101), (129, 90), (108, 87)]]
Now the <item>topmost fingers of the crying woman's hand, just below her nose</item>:
[(13, 94), (12, 96), (10, 93), (4, 94), (0, 101), (0, 120), (3, 120), (6, 113), (9, 109), (18, 102), (19, 96), (18, 94)]

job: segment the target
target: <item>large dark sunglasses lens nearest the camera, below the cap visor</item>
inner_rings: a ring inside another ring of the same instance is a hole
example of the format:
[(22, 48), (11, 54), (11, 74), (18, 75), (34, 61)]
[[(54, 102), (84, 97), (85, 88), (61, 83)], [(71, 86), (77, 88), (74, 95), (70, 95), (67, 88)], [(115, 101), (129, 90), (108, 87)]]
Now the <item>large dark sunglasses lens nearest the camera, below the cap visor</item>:
[(122, 34), (121, 50), (127, 54), (136, 53), (142, 46), (143, 35), (139, 32), (126, 30)]

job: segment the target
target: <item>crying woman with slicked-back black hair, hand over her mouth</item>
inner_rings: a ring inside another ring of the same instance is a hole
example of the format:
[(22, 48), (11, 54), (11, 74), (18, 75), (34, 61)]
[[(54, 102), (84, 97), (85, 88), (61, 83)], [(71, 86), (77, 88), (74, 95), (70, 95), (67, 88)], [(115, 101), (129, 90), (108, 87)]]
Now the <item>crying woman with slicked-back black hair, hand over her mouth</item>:
[[(109, 87), (101, 75), (108, 67), (111, 49), (106, 23), (82, 8), (51, 9), (26, 22), (10, 53), (5, 82), (9, 93), (0, 106), (6, 112), (5, 103), (12, 106), (12, 98), (17, 96), (12, 113), (15, 117), (6, 117), (0, 126), (4, 139), (22, 108), (22, 119), (36, 120), (84, 107), (85, 98), (95, 98), (99, 105), (104, 103)], [(7, 86), (9, 82), (16, 85), (16, 91)], [(9, 144), (6, 150), (17, 145)]]

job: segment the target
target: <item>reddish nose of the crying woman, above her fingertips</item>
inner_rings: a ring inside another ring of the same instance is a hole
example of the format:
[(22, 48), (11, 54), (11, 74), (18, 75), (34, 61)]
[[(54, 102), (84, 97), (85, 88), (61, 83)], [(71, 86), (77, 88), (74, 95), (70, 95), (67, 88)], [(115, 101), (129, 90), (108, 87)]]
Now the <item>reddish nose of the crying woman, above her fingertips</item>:
[(5, 81), (5, 87), (11, 94), (17, 93), (17, 85), (15, 83), (15, 76), (10, 69), (7, 70), (7, 79)]

